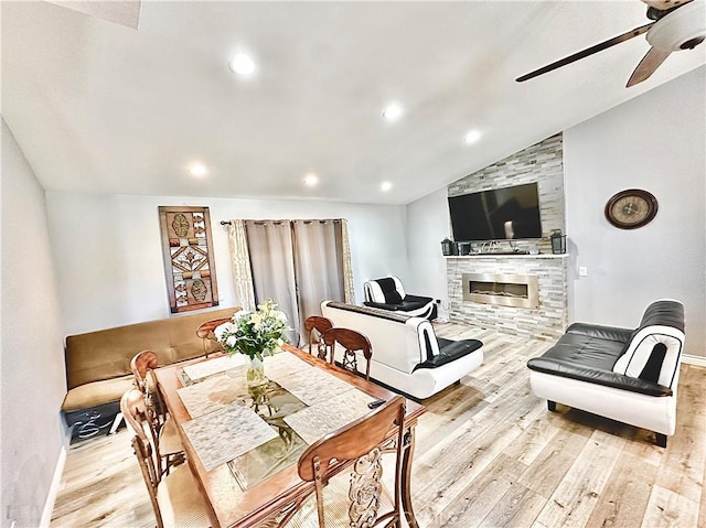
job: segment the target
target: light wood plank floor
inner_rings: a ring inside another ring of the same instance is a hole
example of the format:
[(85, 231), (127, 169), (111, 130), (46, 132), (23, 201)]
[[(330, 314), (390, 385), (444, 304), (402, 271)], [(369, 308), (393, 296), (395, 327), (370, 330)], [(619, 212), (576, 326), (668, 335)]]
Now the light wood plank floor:
[[(550, 344), (453, 324), (484, 343), (483, 365), (425, 401), (413, 471), (422, 528), (706, 527), (706, 368), (682, 366), (677, 430), (654, 434), (546, 402), (530, 357)], [(68, 452), (52, 527), (154, 526), (122, 429)]]

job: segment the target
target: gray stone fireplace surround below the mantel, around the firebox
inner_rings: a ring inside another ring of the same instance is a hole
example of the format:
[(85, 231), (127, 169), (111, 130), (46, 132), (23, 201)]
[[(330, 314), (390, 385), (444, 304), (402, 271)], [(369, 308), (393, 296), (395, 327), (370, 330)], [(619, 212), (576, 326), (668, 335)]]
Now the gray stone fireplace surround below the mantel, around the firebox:
[[(554, 341), (568, 324), (567, 256), (447, 257), (449, 317), (454, 323)], [(537, 309), (463, 301), (463, 273), (534, 274), (539, 283)]]

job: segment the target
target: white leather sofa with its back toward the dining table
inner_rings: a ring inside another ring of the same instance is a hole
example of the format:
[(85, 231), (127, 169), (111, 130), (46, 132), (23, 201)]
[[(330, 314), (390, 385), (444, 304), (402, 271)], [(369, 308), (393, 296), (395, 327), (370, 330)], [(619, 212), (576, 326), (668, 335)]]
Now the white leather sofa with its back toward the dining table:
[[(480, 341), (438, 338), (424, 317), (334, 301), (321, 303), (321, 312), (334, 326), (367, 336), (373, 347), (373, 380), (419, 400), (460, 380), (483, 362)], [(334, 358), (338, 360), (335, 352)], [(361, 357), (357, 365), (364, 373), (365, 359)]]

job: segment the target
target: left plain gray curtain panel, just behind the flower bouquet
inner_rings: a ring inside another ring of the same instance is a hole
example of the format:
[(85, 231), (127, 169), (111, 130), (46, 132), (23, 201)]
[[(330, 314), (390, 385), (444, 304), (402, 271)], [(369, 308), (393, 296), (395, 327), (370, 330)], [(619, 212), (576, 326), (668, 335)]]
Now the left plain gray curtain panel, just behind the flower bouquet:
[(258, 304), (272, 299), (287, 314), (293, 330), (287, 335), (299, 343), (301, 322), (297, 304), (297, 281), (292, 262), (292, 237), (289, 220), (245, 220), (250, 254), (253, 285)]

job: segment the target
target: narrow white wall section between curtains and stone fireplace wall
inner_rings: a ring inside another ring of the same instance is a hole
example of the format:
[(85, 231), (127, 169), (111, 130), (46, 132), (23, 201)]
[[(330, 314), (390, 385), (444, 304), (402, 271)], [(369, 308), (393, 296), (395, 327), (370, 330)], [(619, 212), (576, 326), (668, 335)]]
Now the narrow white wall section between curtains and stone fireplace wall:
[(405, 290), (441, 300), (439, 315), (447, 316), (449, 294), (441, 240), (452, 238), (447, 188), (407, 205), (407, 255), (409, 280)]

